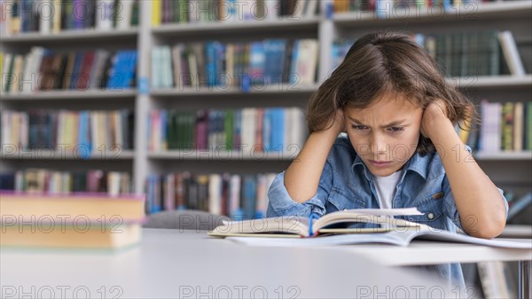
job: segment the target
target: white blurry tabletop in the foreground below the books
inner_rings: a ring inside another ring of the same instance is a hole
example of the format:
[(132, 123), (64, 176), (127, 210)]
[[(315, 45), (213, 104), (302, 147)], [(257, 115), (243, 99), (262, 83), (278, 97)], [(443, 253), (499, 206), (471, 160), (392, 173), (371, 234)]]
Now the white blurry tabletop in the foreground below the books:
[(436, 279), (343, 249), (250, 248), (205, 232), (143, 233), (140, 246), (118, 253), (1, 248), (0, 296), (456, 297)]

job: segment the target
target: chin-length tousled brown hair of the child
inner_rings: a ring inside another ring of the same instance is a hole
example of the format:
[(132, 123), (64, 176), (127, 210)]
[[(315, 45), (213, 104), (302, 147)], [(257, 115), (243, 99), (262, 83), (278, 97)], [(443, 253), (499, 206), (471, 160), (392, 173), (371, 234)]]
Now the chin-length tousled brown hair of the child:
[[(309, 100), (309, 132), (325, 130), (338, 108), (365, 108), (383, 95), (403, 96), (425, 108), (446, 103), (453, 124), (478, 119), (472, 102), (445, 81), (438, 65), (411, 35), (379, 31), (356, 40), (345, 59)], [(430, 139), (419, 136), (418, 153), (434, 153)]]

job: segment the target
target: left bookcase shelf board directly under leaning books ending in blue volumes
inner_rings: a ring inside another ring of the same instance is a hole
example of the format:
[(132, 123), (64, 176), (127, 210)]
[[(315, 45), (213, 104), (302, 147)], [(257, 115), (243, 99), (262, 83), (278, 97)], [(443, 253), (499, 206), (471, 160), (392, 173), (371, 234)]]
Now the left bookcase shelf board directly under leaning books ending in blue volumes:
[(135, 98), (137, 90), (50, 90), (27, 93), (3, 93), (2, 101), (57, 100), (71, 98)]

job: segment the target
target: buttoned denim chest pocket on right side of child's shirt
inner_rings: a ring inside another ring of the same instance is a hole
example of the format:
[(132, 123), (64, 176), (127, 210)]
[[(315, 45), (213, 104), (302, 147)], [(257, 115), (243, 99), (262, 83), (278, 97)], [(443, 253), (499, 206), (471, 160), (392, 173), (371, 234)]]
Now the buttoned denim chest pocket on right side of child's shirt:
[(419, 209), (423, 215), (411, 215), (406, 219), (419, 224), (427, 224), (437, 229), (445, 229), (443, 216), (444, 193), (439, 191), (430, 196), (423, 197), (419, 202), (415, 202), (413, 207)]

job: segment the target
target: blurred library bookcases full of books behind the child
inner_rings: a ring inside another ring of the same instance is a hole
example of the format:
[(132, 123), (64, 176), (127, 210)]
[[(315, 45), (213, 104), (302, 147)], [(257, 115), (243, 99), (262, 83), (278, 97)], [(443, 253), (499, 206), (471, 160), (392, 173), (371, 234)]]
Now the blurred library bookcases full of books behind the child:
[[(392, 29), (473, 100), (481, 122), (457, 134), (505, 192), (505, 236), (531, 237), (532, 1), (0, 4), (0, 189), (137, 193), (148, 215), (262, 217), (308, 136), (311, 94), (356, 38)], [(508, 267), (465, 271), (481, 295), (504, 297), (516, 292)], [(481, 284), (489, 276), (498, 287)]]

